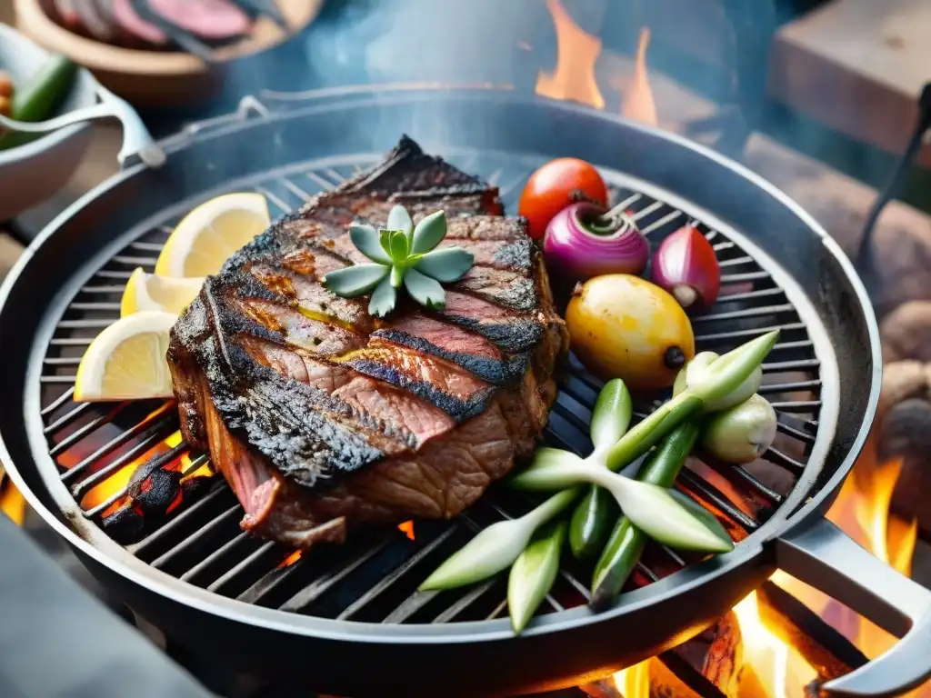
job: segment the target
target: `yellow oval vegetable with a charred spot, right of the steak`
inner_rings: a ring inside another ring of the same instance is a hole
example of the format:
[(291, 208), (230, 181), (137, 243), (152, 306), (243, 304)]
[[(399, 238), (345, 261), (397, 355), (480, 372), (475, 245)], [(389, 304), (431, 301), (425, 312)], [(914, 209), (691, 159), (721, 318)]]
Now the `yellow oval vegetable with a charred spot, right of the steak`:
[[(566, 308), (575, 356), (604, 380), (620, 378), (632, 391), (668, 388), (681, 362), (695, 356), (689, 318), (672, 296), (639, 276), (610, 274), (579, 284)], [(670, 351), (670, 350), (678, 350)]]

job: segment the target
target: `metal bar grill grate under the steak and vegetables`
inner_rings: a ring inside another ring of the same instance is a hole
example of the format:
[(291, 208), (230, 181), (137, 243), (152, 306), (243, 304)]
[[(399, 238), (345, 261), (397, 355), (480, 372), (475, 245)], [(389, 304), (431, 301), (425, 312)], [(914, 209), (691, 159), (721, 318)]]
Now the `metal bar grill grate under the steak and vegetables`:
[[(488, 179), (501, 187), (509, 211), (515, 210), (519, 187), (538, 164), (531, 158), (478, 152), (450, 159), (465, 171), (490, 173)], [(287, 173), (265, 174), (250, 188), (265, 195), (274, 215), (300, 206), (377, 160), (375, 155), (368, 161), (346, 158), (344, 164), (331, 159), (322, 168), (309, 163)], [(617, 184), (612, 199), (624, 202), (654, 244), (694, 220), (663, 201), (625, 188), (627, 180), (620, 173), (604, 175)], [(80, 357), (97, 333), (118, 317), (123, 284), (132, 269), (153, 270), (173, 222), (164, 221), (130, 242), (92, 275), (61, 317), (47, 349), (40, 381), (48, 452), (88, 521), (102, 526), (105, 520), (104, 530), (115, 537), (131, 534), (135, 540), (126, 545), (128, 551), (157, 570), (225, 597), (281, 611), (392, 624), (501, 615), (503, 579), (442, 593), (417, 592), (416, 586), (475, 531), (523, 513), (530, 505), (523, 495), (493, 490), (456, 520), (417, 521), (412, 540), (400, 530), (377, 530), (356, 535), (342, 547), (321, 546), (297, 556), (238, 529), (241, 509), (236, 498), (222, 477), (211, 477), (205, 456), (185, 448), (172, 403), (73, 402)], [(677, 483), (719, 517), (739, 542), (772, 515), (804, 470), (817, 438), (819, 363), (814, 342), (772, 270), (735, 240), (698, 224), (718, 255), (723, 276), (719, 301), (706, 315), (693, 319), (697, 349), (723, 352), (762, 331), (782, 330), (763, 366), (760, 391), (778, 415), (774, 448), (747, 466), (690, 459)], [(582, 453), (590, 450), (587, 423), (599, 389), (600, 381), (572, 358), (546, 429), (550, 444)], [(653, 407), (637, 406), (635, 418)], [(147, 473), (167, 473), (177, 494), (167, 512), (144, 517), (144, 530), (130, 526), (127, 533), (116, 526), (115, 512), (126, 503), (130, 477), (141, 467)], [(590, 570), (570, 557), (564, 556), (560, 580), (540, 612), (562, 611), (587, 600), (584, 581)], [(654, 545), (630, 584), (650, 584), (694, 561)]]

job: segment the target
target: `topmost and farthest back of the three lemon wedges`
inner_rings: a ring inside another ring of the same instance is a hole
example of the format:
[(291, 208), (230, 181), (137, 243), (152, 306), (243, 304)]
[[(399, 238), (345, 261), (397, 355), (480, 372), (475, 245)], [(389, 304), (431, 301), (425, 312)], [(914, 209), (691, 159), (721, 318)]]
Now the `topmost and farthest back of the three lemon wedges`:
[(271, 220), (261, 194), (228, 194), (188, 213), (155, 262), (155, 274), (189, 278), (216, 274), (238, 248)]

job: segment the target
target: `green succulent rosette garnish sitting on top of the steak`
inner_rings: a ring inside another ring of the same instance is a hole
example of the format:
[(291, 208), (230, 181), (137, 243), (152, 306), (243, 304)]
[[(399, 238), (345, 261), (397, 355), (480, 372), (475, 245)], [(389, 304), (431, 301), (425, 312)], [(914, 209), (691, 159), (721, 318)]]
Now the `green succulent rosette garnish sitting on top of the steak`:
[(337, 296), (357, 298), (371, 291), (369, 314), (385, 317), (395, 309), (403, 286), (427, 308), (446, 306), (440, 283), (458, 281), (475, 258), (463, 248), (436, 249), (446, 236), (446, 212), (436, 211), (417, 225), (403, 206), (388, 213), (387, 227), (365, 223), (349, 226), (349, 238), (371, 264), (356, 264), (325, 275), (321, 281)]

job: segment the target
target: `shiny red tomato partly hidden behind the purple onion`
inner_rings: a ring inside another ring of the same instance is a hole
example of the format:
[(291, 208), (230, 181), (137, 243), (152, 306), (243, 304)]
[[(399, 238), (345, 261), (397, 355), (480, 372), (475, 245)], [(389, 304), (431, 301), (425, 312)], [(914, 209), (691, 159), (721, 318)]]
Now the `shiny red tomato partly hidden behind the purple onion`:
[(518, 213), (530, 221), (530, 236), (539, 240), (553, 216), (579, 201), (579, 196), (601, 206), (608, 205), (608, 188), (598, 170), (585, 160), (560, 157), (530, 176), (520, 194)]

